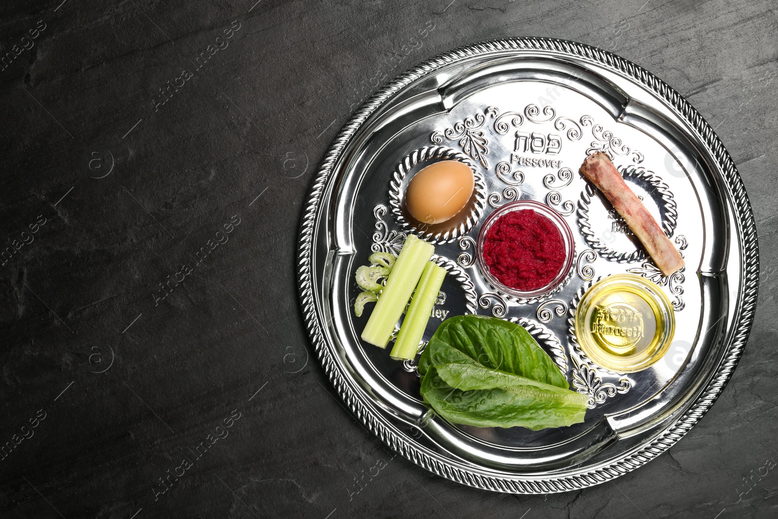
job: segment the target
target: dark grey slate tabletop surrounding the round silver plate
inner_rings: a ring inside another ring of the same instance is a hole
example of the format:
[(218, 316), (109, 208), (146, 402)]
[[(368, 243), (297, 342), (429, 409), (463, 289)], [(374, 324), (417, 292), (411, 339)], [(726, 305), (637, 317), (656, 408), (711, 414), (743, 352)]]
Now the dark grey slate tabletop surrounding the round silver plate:
[[(778, 516), (775, 2), (0, 12), (0, 516)], [(748, 348), (702, 422), (636, 472), (547, 496), (387, 451), (335, 397), (296, 293), (302, 204), (346, 117), (418, 61), (511, 36), (615, 51), (687, 96), (734, 156), (762, 251)]]

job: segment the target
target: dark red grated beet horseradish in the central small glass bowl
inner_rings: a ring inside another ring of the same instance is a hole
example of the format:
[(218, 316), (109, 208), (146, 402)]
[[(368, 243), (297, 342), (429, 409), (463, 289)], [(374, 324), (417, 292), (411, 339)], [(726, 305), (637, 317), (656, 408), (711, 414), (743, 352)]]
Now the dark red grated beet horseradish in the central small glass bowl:
[(512, 289), (528, 292), (548, 285), (565, 263), (562, 234), (532, 209), (506, 212), (489, 227), (483, 247), (489, 272)]

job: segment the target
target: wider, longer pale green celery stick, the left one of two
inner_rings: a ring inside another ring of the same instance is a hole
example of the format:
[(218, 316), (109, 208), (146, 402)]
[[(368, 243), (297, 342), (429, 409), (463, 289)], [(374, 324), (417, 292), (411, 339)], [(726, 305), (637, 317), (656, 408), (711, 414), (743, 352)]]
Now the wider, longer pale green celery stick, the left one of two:
[(384, 291), (362, 332), (363, 341), (380, 348), (387, 347), (394, 325), (400, 320), (402, 310), (411, 299), (413, 289), (434, 251), (435, 247), (413, 234), (405, 240)]

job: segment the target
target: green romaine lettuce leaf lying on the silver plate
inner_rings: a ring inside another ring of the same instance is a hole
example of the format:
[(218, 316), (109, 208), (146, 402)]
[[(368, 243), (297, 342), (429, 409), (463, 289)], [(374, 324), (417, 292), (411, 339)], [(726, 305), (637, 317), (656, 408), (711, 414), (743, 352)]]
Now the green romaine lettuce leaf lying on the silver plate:
[(524, 328), (495, 317), (443, 321), (419, 359), (422, 396), (454, 423), (478, 427), (569, 426), (584, 421), (587, 397)]

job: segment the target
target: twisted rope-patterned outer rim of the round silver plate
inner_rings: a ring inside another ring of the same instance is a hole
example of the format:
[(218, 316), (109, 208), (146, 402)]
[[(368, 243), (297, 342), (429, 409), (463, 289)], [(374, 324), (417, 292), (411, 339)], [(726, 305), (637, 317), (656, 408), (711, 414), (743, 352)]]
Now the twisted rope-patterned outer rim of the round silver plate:
[[(620, 455), (619, 458), (614, 458), (601, 464), (597, 468), (578, 472), (574, 475), (532, 475), (531, 477), (524, 475), (516, 475), (515, 477), (495, 475), (492, 470), (484, 469), (478, 471), (478, 468), (471, 468), (462, 464), (455, 465), (453, 461), (443, 459), (442, 456), (427, 450), (419, 444), (412, 443), (412, 441), (409, 441), (409, 438), (403, 437), (399, 434), (396, 427), (389, 423), (384, 423), (384, 420), (377, 418), (377, 416), (373, 416), (372, 410), (369, 409), (365, 402), (361, 401), (360, 395), (347, 384), (344, 373), (339, 370), (334, 357), (325, 343), (314, 300), (314, 286), (311, 279), (314, 258), (311, 253), (313, 251), (314, 231), (321, 197), (330, 178), (332, 167), (360, 125), (385, 101), (389, 100), (395, 93), (398, 93), (400, 89), (415, 79), (419, 79), (422, 75), (429, 74), (436, 68), (483, 54), (511, 51), (553, 52), (581, 58), (594, 65), (602, 65), (615, 72), (620, 72), (622, 75), (626, 75), (639, 82), (657, 94), (671, 109), (675, 110), (678, 117), (690, 125), (692, 131), (696, 132), (699, 139), (705, 143), (707, 151), (717, 160), (717, 166), (720, 167), (722, 178), (727, 184), (734, 204), (734, 219), (741, 228), (741, 233), (738, 236), (744, 264), (744, 275), (738, 289), (741, 293), (741, 304), (734, 311), (730, 343), (724, 351), (718, 370), (713, 373), (703, 389), (699, 391), (699, 394), (689, 405), (688, 409), (666, 426), (661, 433), (657, 433), (652, 440), (643, 444), (642, 447), (636, 447)], [(464, 485), (504, 493), (555, 493), (593, 486), (614, 479), (626, 472), (633, 471), (668, 450), (702, 419), (712, 407), (713, 402), (724, 391), (724, 387), (730, 379), (735, 366), (737, 366), (738, 360), (745, 348), (745, 343), (748, 340), (759, 289), (759, 245), (752, 208), (750, 202), (748, 202), (748, 195), (746, 195), (743, 181), (734, 166), (734, 161), (727, 150), (724, 149), (724, 145), (713, 131), (713, 128), (710, 127), (710, 124), (675, 89), (631, 61), (590, 45), (543, 37), (486, 40), (445, 51), (403, 72), (363, 103), (362, 107), (357, 110), (356, 114), (352, 115), (341, 132), (338, 133), (317, 170), (300, 222), (297, 260), (300, 307), (308, 334), (317, 356), (319, 356), (324, 372), (327, 373), (331, 383), (338, 391), (338, 395), (349, 405), (351, 411), (380, 440), (416, 465)]]

